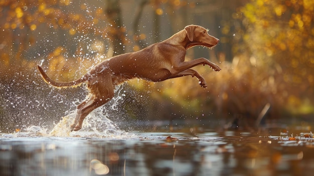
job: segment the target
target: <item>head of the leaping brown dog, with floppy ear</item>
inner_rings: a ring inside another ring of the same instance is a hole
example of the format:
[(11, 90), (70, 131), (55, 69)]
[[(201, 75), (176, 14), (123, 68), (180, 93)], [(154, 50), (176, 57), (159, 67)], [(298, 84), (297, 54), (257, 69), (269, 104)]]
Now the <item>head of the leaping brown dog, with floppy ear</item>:
[(197, 25), (189, 25), (185, 27), (187, 36), (191, 42), (190, 47), (202, 45), (211, 48), (218, 44), (219, 40), (213, 36), (210, 36), (208, 30)]

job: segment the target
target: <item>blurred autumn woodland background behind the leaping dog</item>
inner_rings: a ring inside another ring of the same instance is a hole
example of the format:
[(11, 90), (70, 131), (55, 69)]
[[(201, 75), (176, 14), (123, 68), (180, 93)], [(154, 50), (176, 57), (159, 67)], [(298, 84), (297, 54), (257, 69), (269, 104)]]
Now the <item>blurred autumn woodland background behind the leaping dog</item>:
[[(194, 47), (186, 60), (208, 58), (222, 70), (195, 69), (198, 80), (132, 80), (104, 108), (113, 121), (222, 120), (252, 127), (314, 115), (314, 1), (107, 0), (0, 1), (0, 131), (52, 126), (86, 96), (56, 89), (114, 55), (163, 41), (200, 25), (220, 43)], [(134, 123), (132, 125), (135, 125)], [(175, 125), (175, 124), (172, 124)]]

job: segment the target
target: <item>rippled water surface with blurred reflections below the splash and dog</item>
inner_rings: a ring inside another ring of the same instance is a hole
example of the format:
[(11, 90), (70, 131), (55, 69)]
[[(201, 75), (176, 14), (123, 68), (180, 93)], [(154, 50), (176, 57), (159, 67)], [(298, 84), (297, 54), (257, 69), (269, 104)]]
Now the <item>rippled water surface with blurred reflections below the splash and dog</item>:
[[(310, 175), (313, 142), (206, 132), (0, 137), (0, 175)], [(220, 136), (219, 136), (220, 135)]]

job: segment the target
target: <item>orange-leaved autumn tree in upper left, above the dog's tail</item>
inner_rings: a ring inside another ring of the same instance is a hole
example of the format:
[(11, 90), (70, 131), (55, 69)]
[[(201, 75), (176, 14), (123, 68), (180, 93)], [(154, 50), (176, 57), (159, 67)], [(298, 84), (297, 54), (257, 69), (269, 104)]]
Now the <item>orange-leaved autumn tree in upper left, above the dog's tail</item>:
[[(41, 0), (1, 1), (1, 70), (5, 71), (12, 64), (24, 63), (25, 65), (24, 59), (40, 58), (39, 52), (35, 55), (32, 51), (36, 51), (35, 49), (46, 51), (46, 48), (43, 48), (43, 45), (47, 44), (45, 35), (48, 35), (51, 30), (54, 30), (50, 34), (54, 34), (55, 37), (52, 38), (55, 40), (47, 47), (48, 59), (51, 57), (57, 59), (65, 53), (83, 55), (88, 51), (82, 50), (84, 46), (81, 43), (83, 39), (88, 38), (111, 41), (113, 48), (118, 49), (117, 54), (123, 53), (125, 29), (121, 25), (121, 20), (118, 20), (119, 1), (109, 1), (108, 5), (114, 5), (110, 7), (87, 3)], [(70, 42), (71, 39), (78, 39), (81, 36), (83, 39)], [(86, 45), (87, 42), (83, 41), (83, 43)]]

